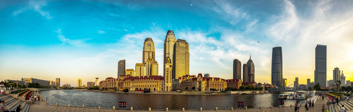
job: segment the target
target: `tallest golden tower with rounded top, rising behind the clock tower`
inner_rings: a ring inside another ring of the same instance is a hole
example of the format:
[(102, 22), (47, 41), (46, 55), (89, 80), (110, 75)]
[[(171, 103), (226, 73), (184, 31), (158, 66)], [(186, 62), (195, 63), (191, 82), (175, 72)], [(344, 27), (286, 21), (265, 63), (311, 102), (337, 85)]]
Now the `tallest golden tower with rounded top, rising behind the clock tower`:
[[(164, 40), (164, 50), (163, 50), (163, 64), (166, 64), (167, 58), (170, 59), (170, 64), (175, 65), (174, 62), (174, 45), (177, 42), (175, 38), (174, 32), (169, 30), (166, 35), (166, 39)], [(163, 71), (165, 72), (165, 71)], [(172, 70), (173, 72), (173, 70)], [(165, 73), (163, 73), (165, 74)]]

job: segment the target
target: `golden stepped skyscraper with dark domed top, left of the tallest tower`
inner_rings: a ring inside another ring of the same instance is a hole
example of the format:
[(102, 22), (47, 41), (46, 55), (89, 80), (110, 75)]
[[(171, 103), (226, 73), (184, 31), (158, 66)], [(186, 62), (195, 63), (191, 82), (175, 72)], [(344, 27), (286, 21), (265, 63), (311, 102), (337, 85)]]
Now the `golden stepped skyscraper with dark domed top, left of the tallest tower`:
[(142, 63), (146, 66), (146, 75), (158, 75), (158, 63), (155, 60), (155, 46), (152, 38), (143, 43)]

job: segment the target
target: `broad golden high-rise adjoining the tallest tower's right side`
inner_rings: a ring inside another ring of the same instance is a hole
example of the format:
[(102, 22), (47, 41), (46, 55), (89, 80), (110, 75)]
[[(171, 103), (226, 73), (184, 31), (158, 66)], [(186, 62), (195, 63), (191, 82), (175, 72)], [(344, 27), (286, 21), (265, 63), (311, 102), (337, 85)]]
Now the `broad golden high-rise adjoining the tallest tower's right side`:
[(174, 44), (173, 55), (172, 78), (179, 79), (179, 77), (189, 75), (189, 43), (186, 40), (178, 39)]

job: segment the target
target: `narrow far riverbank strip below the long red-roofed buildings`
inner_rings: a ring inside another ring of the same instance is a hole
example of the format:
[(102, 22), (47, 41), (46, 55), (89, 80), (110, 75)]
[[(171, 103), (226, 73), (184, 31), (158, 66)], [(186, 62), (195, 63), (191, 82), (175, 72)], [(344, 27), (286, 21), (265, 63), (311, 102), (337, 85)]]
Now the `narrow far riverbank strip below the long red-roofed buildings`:
[(239, 95), (239, 93), (245, 93), (245, 94), (266, 94), (266, 93), (270, 93), (270, 92), (252, 92), (252, 91), (242, 91), (242, 92), (238, 92), (238, 93), (212, 93), (212, 94), (208, 94), (208, 93), (198, 93), (198, 92), (183, 92), (183, 93), (179, 93), (179, 92), (169, 92), (169, 91), (151, 91), (150, 93), (143, 93), (143, 91), (129, 91), (129, 92), (122, 92), (122, 91), (118, 91), (118, 92), (109, 92), (109, 91), (96, 91), (96, 90), (82, 90), (82, 91), (89, 91), (89, 92), (101, 92), (101, 93), (121, 93), (121, 94), (154, 94), (154, 95)]

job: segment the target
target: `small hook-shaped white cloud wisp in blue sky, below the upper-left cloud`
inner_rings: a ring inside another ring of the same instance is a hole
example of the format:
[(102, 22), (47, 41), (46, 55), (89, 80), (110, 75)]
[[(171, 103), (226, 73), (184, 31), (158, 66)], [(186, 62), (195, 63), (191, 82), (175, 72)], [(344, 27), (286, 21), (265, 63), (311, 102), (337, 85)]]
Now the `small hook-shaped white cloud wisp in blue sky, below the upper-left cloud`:
[(67, 39), (65, 38), (64, 35), (61, 35), (61, 29), (59, 28), (57, 31), (55, 31), (56, 33), (58, 33), (58, 38), (60, 41), (62, 41), (62, 44), (70, 44), (70, 45), (74, 45), (74, 46), (86, 46), (86, 44), (84, 43), (85, 40), (90, 40), (90, 38), (87, 39), (79, 39), (79, 40), (71, 40), (71, 39)]

